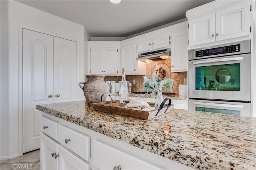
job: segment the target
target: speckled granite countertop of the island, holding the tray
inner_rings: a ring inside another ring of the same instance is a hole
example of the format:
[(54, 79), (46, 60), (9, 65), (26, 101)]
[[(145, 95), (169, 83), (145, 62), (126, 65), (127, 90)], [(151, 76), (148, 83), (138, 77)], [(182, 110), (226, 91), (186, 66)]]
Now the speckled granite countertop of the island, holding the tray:
[(95, 111), (86, 101), (36, 109), (196, 169), (256, 169), (256, 118), (172, 109), (148, 121)]

